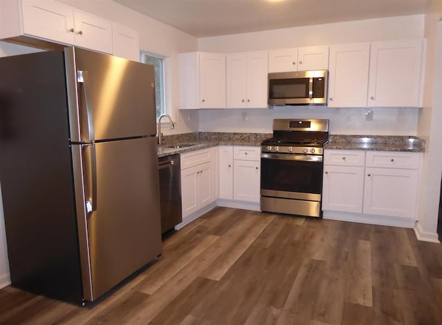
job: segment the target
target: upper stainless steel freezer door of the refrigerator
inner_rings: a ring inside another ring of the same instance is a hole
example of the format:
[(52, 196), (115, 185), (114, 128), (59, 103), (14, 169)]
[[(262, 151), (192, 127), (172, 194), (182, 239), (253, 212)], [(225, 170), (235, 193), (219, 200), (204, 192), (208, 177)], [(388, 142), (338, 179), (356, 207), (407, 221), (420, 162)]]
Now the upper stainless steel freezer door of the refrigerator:
[(156, 134), (153, 66), (66, 48), (71, 141)]

